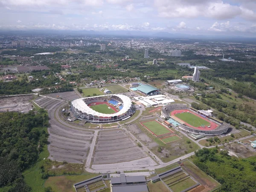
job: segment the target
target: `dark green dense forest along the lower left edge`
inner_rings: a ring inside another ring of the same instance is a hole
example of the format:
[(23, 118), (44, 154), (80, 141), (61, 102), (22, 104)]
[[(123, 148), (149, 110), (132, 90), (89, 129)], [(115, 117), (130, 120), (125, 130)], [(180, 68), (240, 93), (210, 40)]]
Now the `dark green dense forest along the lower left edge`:
[(29, 192), (22, 172), (38, 158), (47, 143), (48, 115), (43, 109), (37, 113), (6, 112), (0, 114), (0, 187), (11, 186), (8, 192)]

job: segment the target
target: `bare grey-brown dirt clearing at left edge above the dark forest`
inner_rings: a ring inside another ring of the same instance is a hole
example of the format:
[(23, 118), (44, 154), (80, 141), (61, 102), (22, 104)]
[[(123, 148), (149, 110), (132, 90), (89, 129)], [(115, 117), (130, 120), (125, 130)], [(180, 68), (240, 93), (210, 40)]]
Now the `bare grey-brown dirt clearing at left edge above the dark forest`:
[(32, 109), (32, 103), (29, 100), (33, 99), (33, 95), (1, 97), (0, 112), (18, 111), (27, 113)]

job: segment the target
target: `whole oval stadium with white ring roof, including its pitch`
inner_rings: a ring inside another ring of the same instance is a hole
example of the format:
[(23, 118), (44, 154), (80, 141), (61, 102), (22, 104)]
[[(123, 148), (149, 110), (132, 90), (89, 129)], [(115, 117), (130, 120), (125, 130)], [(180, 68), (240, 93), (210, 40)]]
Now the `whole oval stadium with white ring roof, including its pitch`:
[(76, 99), (71, 103), (76, 118), (93, 123), (125, 120), (135, 113), (131, 99), (125, 95), (104, 95)]

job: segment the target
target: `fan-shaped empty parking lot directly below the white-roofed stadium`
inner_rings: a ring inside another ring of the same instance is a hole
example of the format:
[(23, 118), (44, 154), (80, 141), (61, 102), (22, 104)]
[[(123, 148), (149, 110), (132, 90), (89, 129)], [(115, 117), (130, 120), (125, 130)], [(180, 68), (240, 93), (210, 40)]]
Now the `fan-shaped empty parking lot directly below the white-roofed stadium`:
[(124, 131), (100, 131), (96, 143), (93, 164), (120, 163), (147, 155)]

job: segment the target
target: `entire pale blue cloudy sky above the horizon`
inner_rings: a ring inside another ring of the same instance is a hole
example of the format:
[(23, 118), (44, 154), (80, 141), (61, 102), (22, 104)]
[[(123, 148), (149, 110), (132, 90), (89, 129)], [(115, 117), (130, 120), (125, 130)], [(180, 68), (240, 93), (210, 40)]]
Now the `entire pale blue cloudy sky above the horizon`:
[(256, 36), (256, 0), (0, 0), (0, 29)]

